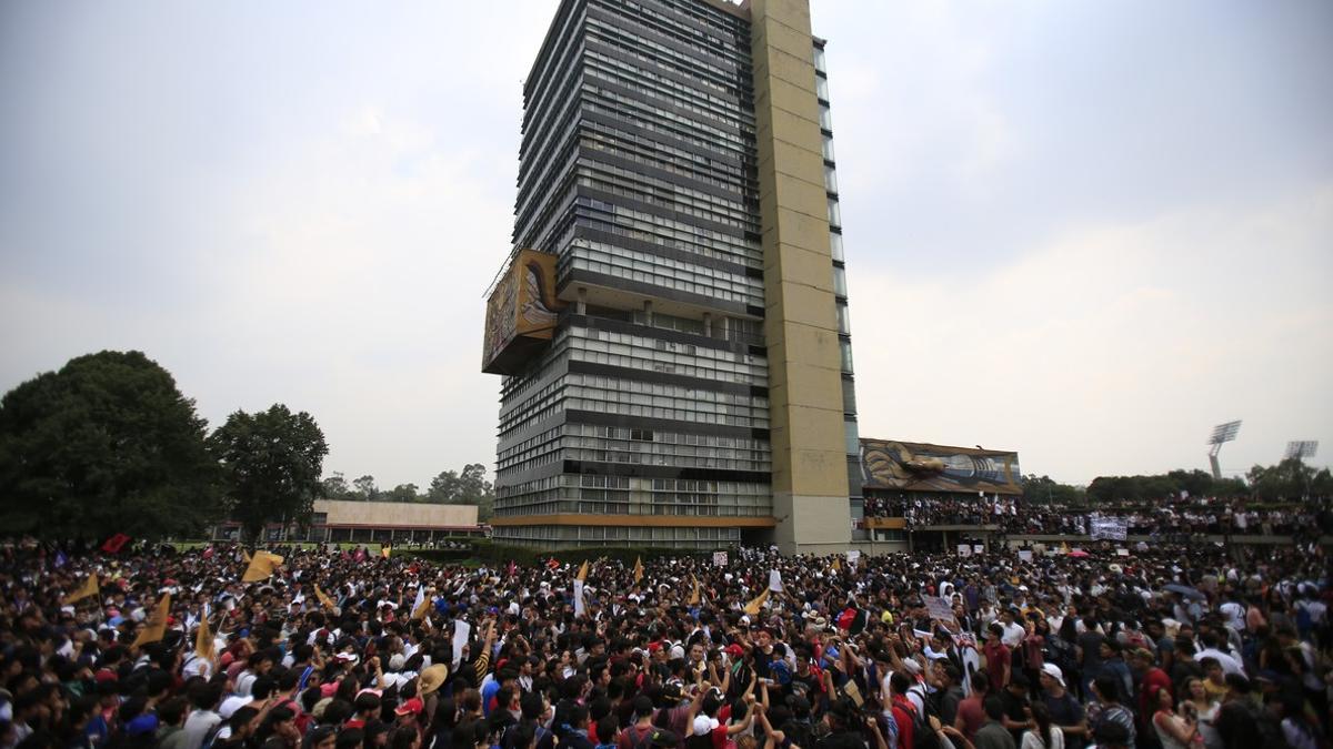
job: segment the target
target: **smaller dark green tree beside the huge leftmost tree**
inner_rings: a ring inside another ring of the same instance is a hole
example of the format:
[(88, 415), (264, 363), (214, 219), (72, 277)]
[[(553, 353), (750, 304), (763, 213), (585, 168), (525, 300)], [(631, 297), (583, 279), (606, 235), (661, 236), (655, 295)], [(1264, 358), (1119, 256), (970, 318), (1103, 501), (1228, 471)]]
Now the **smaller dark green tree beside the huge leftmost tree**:
[(269, 522), (284, 526), (311, 520), (328, 444), (315, 418), (277, 404), (268, 410), (237, 410), (208, 445), (223, 466), (228, 509), (255, 540)]

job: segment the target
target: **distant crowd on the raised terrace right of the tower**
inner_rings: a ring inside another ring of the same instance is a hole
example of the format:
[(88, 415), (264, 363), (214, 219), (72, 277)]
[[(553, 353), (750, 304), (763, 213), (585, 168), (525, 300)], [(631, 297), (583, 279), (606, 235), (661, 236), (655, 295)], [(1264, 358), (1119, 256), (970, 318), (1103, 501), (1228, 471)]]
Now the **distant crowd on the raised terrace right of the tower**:
[(1156, 502), (1112, 502), (1088, 508), (973, 494), (898, 494), (865, 500), (868, 517), (902, 517), (909, 529), (996, 525), (1006, 534), (1086, 536), (1090, 533), (1092, 513), (1124, 518), (1128, 533), (1136, 536), (1305, 536), (1333, 532), (1333, 514), (1325, 502), (1256, 506), (1240, 498), (1164, 497)]

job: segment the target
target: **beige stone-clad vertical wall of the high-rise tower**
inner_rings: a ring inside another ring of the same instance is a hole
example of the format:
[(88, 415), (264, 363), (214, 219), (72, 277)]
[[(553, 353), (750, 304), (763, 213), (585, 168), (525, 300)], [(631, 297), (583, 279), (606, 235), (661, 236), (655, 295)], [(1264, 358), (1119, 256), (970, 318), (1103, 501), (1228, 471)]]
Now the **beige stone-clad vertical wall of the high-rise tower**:
[(773, 540), (850, 541), (838, 320), (806, 0), (754, 0), (750, 56), (769, 359)]

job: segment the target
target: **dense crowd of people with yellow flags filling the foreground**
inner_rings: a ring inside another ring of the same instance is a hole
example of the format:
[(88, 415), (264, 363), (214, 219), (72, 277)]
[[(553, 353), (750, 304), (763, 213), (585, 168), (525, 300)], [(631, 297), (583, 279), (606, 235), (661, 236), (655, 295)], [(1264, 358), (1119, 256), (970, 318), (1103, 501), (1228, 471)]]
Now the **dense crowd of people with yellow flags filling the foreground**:
[(1310, 749), (1330, 592), (1296, 548), (477, 568), (15, 542), (0, 749)]

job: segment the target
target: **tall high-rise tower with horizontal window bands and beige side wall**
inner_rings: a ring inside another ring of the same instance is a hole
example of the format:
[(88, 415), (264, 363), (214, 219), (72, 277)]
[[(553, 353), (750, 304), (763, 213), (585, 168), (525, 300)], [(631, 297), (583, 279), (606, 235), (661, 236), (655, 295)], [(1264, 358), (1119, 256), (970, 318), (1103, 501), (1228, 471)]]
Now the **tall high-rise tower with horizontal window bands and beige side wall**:
[(862, 482), (806, 0), (561, 0), (524, 97), (483, 353), (495, 537), (845, 548)]

